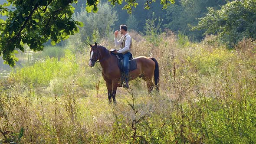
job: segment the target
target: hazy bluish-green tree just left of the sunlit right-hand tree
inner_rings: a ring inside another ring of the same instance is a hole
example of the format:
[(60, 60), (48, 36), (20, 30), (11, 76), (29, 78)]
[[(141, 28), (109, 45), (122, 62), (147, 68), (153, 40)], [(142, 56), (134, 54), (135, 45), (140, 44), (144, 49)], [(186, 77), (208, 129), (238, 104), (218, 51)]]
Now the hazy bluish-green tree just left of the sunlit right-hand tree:
[(207, 13), (207, 7), (220, 9), (223, 4), (226, 4), (226, 0), (179, 0), (174, 5), (167, 7), (167, 24), (164, 27), (176, 33), (184, 33), (193, 39), (201, 40), (204, 31), (190, 31), (188, 24), (197, 25), (198, 18)]

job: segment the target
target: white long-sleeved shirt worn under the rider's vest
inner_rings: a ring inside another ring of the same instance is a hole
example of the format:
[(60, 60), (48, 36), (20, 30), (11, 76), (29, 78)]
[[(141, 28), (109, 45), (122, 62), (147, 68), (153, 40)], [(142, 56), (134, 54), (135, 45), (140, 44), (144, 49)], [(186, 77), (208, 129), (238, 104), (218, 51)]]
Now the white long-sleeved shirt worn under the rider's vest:
[[(121, 43), (124, 39), (124, 37), (126, 37), (125, 40), (125, 47), (122, 49), (121, 47)], [(130, 44), (131, 44), (131, 36), (126, 33), (125, 36), (122, 36), (121, 39), (118, 41), (117, 38), (114, 39), (114, 43), (115, 43), (115, 47), (119, 46), (119, 50), (117, 53), (126, 53), (130, 51)]]

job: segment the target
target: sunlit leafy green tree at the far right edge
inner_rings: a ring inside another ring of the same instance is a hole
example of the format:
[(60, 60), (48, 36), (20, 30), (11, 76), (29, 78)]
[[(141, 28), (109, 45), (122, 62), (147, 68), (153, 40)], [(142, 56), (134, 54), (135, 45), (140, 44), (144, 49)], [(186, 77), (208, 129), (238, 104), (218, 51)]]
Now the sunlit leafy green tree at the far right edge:
[(193, 29), (217, 34), (228, 48), (233, 48), (244, 38), (256, 38), (256, 0), (235, 0), (220, 10), (208, 8), (207, 15)]

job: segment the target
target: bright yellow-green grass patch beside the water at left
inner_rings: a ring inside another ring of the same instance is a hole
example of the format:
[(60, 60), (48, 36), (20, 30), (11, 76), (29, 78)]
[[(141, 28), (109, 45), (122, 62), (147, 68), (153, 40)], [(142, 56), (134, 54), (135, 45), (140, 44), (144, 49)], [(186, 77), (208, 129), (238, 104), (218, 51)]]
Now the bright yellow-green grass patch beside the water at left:
[(46, 86), (54, 78), (66, 79), (70, 75), (74, 75), (77, 69), (75, 56), (70, 50), (66, 50), (65, 56), (60, 60), (55, 57), (46, 58), (45, 61), (37, 62), (32, 66), (16, 69), (15, 73), (11, 73), (9, 79), (16, 82)]

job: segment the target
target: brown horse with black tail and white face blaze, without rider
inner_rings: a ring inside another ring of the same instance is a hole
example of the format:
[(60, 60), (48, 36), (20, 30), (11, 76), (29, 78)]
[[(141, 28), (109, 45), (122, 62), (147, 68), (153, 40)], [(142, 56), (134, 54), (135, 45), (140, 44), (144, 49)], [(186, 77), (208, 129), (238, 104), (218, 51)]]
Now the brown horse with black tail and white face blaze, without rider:
[[(113, 102), (116, 103), (115, 94), (116, 89), (120, 86), (120, 77), (121, 72), (118, 68), (118, 59), (116, 56), (110, 54), (108, 49), (103, 46), (91, 45), (91, 57), (89, 61), (89, 66), (93, 67), (97, 62), (100, 62), (102, 66), (102, 76), (106, 82), (108, 88), (108, 102), (111, 103), (111, 98), (113, 98)], [(137, 62), (137, 69), (129, 72), (129, 80), (136, 79), (141, 77), (147, 82), (148, 92), (150, 93), (154, 86), (156, 90), (159, 91), (159, 68), (158, 62), (154, 58), (139, 56), (134, 58)], [(154, 75), (154, 83), (152, 82), (152, 78)]]

